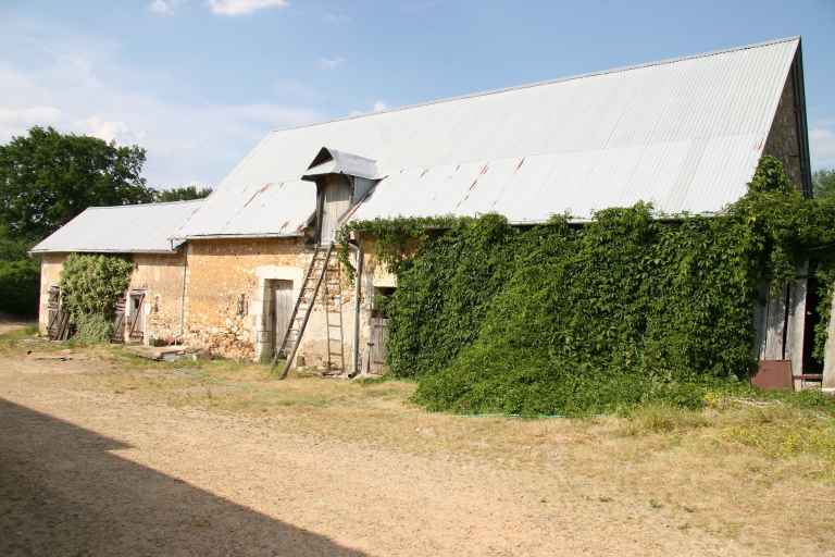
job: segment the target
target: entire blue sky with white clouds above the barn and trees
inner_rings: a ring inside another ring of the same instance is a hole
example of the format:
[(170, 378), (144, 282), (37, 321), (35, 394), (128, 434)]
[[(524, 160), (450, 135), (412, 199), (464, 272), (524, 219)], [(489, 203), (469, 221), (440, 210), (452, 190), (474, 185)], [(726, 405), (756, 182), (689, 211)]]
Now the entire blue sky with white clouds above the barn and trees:
[(835, 0), (0, 0), (0, 141), (51, 124), (213, 185), (270, 129), (793, 35), (835, 166)]

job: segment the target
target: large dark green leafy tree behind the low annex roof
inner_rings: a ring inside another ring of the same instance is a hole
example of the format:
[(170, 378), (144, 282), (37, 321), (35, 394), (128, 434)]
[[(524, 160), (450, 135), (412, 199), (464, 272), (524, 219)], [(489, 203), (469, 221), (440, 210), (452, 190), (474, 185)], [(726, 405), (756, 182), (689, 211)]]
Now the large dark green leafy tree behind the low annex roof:
[(0, 222), (42, 238), (91, 206), (147, 202), (145, 149), (39, 126), (0, 146)]

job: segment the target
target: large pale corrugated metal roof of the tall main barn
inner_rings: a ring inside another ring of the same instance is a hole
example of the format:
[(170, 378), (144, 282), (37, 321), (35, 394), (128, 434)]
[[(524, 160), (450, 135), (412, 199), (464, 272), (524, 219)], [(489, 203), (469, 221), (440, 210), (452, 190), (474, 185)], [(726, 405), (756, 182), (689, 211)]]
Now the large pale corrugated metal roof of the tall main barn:
[(799, 42), (274, 132), (183, 234), (298, 234), (315, 207), (300, 177), (323, 146), (373, 159), (387, 176), (352, 219), (496, 211), (535, 222), (638, 200), (670, 214), (716, 212), (746, 190)]

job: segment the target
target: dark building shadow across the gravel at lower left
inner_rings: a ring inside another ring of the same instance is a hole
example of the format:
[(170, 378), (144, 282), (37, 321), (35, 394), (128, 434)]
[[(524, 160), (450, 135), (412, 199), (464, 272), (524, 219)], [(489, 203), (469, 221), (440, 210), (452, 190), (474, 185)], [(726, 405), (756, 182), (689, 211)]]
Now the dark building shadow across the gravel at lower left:
[(364, 555), (110, 453), (124, 448), (0, 398), (0, 555)]

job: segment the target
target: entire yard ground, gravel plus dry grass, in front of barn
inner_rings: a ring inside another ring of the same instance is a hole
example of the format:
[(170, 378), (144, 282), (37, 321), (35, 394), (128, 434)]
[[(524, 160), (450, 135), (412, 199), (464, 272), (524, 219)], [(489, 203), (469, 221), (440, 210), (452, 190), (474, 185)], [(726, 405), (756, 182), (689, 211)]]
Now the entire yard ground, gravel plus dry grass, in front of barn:
[[(820, 461), (403, 383), (0, 351), (0, 555), (835, 555)], [(705, 455), (708, 457), (706, 458)]]

